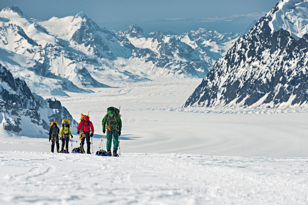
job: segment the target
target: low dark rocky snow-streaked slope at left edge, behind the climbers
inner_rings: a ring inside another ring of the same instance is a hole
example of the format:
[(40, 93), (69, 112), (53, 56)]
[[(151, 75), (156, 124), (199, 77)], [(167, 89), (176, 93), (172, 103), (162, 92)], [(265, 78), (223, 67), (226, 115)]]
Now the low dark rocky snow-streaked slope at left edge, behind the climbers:
[(49, 123), (62, 122), (69, 117), (73, 128), (77, 122), (57, 100), (44, 100), (32, 94), (26, 82), (17, 78), (0, 64), (0, 122), (1, 132), (20, 136), (48, 136)]

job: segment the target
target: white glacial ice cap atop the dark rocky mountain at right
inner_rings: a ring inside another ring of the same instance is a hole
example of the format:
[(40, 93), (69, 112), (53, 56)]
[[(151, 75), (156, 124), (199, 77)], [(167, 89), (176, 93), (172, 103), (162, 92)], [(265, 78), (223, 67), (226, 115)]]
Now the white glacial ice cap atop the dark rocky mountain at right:
[(266, 15), (271, 32), (287, 30), (295, 39), (308, 33), (308, 0), (281, 0)]

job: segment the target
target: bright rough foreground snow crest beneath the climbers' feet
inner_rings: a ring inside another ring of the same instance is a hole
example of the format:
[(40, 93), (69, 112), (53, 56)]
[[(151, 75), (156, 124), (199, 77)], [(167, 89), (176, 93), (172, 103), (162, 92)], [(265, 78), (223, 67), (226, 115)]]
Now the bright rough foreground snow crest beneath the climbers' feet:
[(306, 158), (0, 151), (1, 204), (307, 204)]

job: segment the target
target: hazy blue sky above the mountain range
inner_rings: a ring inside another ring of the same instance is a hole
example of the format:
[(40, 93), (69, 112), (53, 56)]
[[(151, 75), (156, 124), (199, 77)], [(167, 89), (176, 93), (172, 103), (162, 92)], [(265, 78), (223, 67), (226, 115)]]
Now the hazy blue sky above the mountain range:
[[(1, 0), (0, 8), (18, 6), (28, 17), (48, 20), (83, 11), (101, 27), (125, 30), (139, 25), (146, 33), (182, 33), (207, 27), (218, 32), (244, 32), (253, 19), (268, 12), (278, 0)], [(213, 17), (218, 17), (212, 19)], [(211, 18), (211, 19), (209, 19)]]

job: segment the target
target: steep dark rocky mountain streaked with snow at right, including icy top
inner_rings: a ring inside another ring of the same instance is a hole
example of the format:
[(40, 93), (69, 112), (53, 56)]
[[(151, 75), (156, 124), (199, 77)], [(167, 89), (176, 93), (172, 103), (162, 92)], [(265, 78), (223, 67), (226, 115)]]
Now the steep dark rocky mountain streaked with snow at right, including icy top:
[(184, 107), (306, 107), (307, 3), (280, 1), (217, 60)]

